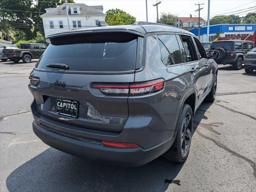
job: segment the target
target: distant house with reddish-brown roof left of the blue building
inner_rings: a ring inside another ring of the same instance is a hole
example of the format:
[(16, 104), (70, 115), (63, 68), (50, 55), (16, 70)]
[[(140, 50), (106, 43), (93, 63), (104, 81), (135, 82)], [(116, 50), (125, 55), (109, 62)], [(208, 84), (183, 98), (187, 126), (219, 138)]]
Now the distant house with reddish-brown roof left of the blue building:
[[(192, 17), (192, 15), (190, 17), (178, 17), (174, 22), (174, 26), (180, 28), (198, 27), (198, 17)], [(203, 18), (200, 18), (200, 26), (206, 26), (206, 21)]]

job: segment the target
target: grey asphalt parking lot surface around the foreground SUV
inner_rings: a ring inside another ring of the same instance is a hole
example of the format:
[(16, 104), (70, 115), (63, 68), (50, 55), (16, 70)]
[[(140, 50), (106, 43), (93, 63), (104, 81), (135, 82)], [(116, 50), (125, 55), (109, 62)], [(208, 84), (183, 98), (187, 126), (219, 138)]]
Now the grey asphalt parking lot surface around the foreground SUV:
[(255, 191), (256, 71), (246, 74), (219, 65), (215, 102), (203, 102), (195, 114), (186, 162), (159, 157), (122, 168), (65, 154), (35, 136), (27, 88), (35, 61), (0, 62), (1, 192)]

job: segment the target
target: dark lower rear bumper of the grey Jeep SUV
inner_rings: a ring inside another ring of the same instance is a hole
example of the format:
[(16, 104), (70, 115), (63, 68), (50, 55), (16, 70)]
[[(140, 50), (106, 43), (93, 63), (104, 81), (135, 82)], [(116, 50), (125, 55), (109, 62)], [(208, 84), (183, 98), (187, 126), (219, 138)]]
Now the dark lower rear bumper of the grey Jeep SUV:
[(143, 148), (122, 149), (104, 146), (100, 142), (83, 142), (66, 137), (46, 130), (43, 125), (38, 126), (35, 122), (33, 122), (33, 131), (45, 144), (57, 150), (94, 162), (125, 167), (141, 166), (156, 159), (166, 151), (166, 148), (170, 147), (175, 139), (149, 150)]

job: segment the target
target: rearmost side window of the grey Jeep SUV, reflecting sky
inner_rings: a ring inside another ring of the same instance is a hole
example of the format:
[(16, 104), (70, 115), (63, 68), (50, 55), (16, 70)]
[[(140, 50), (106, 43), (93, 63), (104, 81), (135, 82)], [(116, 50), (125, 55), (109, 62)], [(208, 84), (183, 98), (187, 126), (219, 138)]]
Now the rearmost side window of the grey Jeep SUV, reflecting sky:
[(162, 62), (166, 66), (182, 63), (176, 35), (158, 35)]

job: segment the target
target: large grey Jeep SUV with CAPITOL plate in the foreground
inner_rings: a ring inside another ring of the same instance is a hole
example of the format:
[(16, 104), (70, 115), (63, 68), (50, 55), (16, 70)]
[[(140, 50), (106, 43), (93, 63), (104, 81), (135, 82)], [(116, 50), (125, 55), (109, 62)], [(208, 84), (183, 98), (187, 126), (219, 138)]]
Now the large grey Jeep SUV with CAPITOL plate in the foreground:
[(33, 131), (43, 142), (121, 166), (186, 160), (193, 116), (214, 101), (218, 72), (194, 34), (135, 22), (47, 38), (29, 76)]

